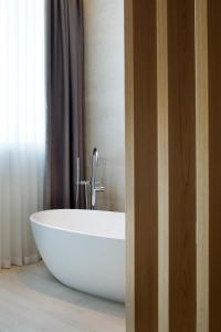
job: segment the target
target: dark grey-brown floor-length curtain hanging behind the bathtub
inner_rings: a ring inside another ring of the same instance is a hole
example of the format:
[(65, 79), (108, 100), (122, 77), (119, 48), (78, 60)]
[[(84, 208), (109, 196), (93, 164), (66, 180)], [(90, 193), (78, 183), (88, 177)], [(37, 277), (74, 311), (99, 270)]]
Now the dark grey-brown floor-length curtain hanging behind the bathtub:
[(83, 3), (46, 0), (45, 208), (78, 208), (76, 158), (83, 160)]

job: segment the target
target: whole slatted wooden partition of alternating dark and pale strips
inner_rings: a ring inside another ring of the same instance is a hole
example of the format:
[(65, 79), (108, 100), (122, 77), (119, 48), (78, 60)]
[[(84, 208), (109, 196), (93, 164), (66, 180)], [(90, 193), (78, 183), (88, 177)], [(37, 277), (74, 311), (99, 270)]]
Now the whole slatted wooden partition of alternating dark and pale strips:
[(127, 331), (218, 332), (221, 2), (125, 4)]

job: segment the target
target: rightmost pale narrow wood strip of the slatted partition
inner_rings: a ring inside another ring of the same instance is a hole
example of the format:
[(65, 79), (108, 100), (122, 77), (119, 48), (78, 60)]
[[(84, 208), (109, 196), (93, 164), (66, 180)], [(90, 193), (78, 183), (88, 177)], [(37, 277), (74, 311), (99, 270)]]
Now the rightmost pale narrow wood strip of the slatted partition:
[(209, 332), (209, 110), (207, 14), (207, 0), (196, 0), (198, 332)]

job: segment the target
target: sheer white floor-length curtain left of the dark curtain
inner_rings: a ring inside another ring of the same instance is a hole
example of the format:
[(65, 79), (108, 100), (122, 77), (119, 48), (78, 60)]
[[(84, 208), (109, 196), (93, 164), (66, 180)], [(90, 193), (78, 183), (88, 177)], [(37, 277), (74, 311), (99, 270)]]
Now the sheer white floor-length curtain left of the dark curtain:
[(39, 259), (30, 214), (42, 208), (44, 0), (0, 0), (0, 268)]

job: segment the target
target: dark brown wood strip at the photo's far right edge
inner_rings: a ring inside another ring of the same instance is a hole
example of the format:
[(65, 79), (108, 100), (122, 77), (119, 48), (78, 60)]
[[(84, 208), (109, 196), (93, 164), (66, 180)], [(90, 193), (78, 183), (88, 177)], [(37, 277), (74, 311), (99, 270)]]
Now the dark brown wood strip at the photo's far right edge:
[(221, 331), (221, 1), (208, 1), (210, 332)]

